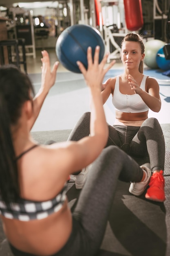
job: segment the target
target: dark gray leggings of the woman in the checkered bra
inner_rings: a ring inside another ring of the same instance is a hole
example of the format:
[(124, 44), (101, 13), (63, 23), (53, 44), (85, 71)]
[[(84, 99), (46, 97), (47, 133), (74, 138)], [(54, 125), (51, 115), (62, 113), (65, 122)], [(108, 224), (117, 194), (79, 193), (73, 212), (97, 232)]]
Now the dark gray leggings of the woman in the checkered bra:
[[(123, 150), (117, 146), (104, 148), (93, 162), (79, 195), (73, 211), (71, 236), (53, 256), (94, 256), (104, 237), (118, 178), (125, 182), (139, 182), (142, 177), (143, 171), (139, 164)], [(15, 256), (33, 256), (13, 246), (11, 250)]]

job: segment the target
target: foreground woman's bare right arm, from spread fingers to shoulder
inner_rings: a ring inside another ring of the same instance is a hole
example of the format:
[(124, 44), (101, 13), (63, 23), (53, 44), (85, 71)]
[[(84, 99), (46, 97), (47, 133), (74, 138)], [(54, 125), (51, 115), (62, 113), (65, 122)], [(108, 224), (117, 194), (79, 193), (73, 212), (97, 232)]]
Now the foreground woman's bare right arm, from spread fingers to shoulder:
[[(77, 62), (91, 97), (90, 136), (86, 136), (79, 141), (66, 141), (48, 146), (52, 149), (50, 157), (53, 157), (53, 161), (50, 161), (50, 164), (48, 163), (48, 169), (51, 170), (50, 176), (53, 176), (54, 180), (57, 177), (57, 182), (60, 182), (62, 186), (69, 174), (88, 166), (99, 156), (108, 139), (108, 124), (106, 123), (101, 90), (104, 76), (114, 62), (110, 63), (105, 69), (108, 54), (99, 63), (99, 50), (99, 47), (96, 47), (93, 60), (92, 49), (91, 47), (88, 48), (87, 70), (81, 62)], [(57, 174), (56, 166), (59, 170)], [(60, 178), (58, 178), (59, 175)]]

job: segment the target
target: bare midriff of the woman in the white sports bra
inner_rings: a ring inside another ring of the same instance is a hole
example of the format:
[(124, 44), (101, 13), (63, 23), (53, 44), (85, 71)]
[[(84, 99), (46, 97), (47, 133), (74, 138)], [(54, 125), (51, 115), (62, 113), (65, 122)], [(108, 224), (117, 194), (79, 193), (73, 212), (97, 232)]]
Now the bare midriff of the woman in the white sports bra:
[(125, 113), (116, 110), (115, 125), (141, 126), (148, 118), (148, 111), (141, 113)]

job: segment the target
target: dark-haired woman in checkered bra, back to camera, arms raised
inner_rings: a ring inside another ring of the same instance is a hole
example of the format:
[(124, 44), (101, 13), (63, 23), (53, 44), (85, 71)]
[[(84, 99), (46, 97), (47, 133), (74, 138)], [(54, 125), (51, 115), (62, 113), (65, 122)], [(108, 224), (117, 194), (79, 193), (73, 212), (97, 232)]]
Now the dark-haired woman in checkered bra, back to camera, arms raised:
[[(26, 74), (0, 67), (0, 217), (15, 256), (92, 256), (102, 243), (117, 179), (145, 189), (147, 167), (117, 146), (104, 148), (108, 125), (101, 95), (108, 54), (99, 64), (87, 51), (88, 69), (77, 62), (91, 95), (90, 136), (79, 141), (39, 145), (30, 135), (42, 103), (55, 82), (42, 52), (42, 86), (33, 98)], [(103, 149), (104, 148), (104, 149)], [(68, 175), (92, 164), (73, 213), (66, 198)], [(114, 171), (113, 171), (114, 170)]]

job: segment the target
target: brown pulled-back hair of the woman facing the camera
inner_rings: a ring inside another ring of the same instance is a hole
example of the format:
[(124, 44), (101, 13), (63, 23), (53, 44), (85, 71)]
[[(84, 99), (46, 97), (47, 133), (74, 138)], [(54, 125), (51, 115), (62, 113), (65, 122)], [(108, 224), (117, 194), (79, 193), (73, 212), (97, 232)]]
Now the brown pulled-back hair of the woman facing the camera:
[[(143, 38), (141, 36), (139, 36), (138, 34), (134, 34), (134, 33), (129, 33), (127, 34), (124, 39), (122, 40), (121, 42), (121, 46), (124, 42), (127, 42), (127, 41), (132, 41), (132, 42), (137, 42), (140, 44), (140, 47), (141, 47), (141, 54), (144, 53), (145, 51), (145, 47), (144, 47), (144, 43), (143, 43)], [(140, 73), (143, 73), (144, 72), (144, 63), (143, 61), (140, 62), (139, 64), (139, 72)]]

